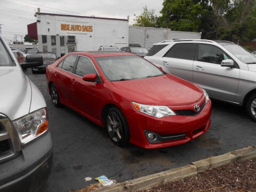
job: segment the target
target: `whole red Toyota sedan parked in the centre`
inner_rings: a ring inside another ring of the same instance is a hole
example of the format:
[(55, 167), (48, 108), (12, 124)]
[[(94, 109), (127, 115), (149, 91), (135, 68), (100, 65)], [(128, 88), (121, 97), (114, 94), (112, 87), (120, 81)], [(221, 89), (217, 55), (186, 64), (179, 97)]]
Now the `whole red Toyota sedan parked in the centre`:
[(53, 105), (106, 126), (118, 146), (161, 148), (210, 126), (211, 100), (199, 86), (124, 52), (69, 53), (46, 68)]

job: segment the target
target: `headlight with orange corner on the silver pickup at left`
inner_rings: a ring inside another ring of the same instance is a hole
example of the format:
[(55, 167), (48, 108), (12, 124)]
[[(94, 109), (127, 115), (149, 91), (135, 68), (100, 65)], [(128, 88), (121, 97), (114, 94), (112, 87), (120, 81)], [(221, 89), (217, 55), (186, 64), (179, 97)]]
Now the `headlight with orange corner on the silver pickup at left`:
[(21, 143), (25, 144), (37, 138), (48, 129), (46, 108), (34, 111), (12, 123), (19, 133)]

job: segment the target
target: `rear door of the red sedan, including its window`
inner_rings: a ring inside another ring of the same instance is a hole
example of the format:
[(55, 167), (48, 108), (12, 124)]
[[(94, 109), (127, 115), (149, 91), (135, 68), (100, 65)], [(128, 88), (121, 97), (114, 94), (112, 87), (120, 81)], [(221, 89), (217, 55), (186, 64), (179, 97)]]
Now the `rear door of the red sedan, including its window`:
[(68, 55), (63, 62), (61, 62), (57, 68), (55, 68), (54, 76), (55, 83), (57, 84), (57, 90), (60, 94), (60, 98), (68, 103), (73, 105), (73, 71), (75, 63), (78, 59), (77, 55)]

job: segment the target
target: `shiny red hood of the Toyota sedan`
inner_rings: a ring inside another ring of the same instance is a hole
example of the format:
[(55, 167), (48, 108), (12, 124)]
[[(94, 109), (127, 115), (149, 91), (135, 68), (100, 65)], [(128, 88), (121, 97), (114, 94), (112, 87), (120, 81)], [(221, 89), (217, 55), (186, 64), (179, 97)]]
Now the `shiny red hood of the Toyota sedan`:
[(125, 98), (147, 105), (190, 105), (203, 97), (198, 86), (170, 74), (111, 83)]

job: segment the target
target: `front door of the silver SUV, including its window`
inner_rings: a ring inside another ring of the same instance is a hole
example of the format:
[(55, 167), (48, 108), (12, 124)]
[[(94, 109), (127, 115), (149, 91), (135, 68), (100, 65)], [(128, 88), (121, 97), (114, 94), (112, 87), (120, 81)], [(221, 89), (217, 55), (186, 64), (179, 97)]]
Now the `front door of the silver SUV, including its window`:
[(198, 44), (193, 66), (193, 82), (203, 87), (212, 98), (235, 101), (240, 69), (221, 67), (221, 61), (232, 59), (220, 47)]

